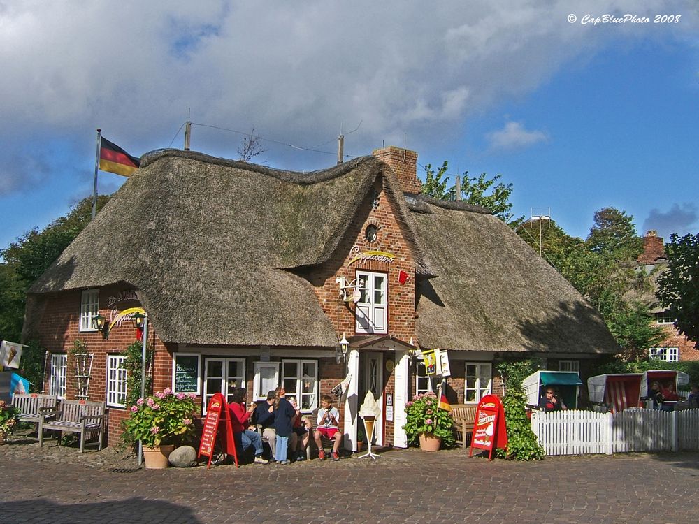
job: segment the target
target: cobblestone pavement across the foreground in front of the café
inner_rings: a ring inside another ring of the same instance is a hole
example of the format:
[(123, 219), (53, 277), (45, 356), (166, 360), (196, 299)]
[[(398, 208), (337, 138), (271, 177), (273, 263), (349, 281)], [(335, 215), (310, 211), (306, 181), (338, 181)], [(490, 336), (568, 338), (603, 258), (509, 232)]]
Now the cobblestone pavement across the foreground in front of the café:
[[(113, 449), (0, 446), (0, 523), (690, 523), (699, 453), (514, 463), (385, 451), (206, 470), (145, 470)], [(551, 493), (552, 495), (548, 495)]]

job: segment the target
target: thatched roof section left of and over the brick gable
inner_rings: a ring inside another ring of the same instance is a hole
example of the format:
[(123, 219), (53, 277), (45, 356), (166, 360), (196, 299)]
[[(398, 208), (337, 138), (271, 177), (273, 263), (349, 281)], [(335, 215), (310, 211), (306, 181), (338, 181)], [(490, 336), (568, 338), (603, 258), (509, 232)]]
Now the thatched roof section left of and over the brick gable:
[(398, 181), (373, 157), (289, 173), (154, 152), (30, 293), (127, 282), (165, 342), (333, 346), (311, 284), (286, 269), (326, 261), (384, 172), (405, 222)]

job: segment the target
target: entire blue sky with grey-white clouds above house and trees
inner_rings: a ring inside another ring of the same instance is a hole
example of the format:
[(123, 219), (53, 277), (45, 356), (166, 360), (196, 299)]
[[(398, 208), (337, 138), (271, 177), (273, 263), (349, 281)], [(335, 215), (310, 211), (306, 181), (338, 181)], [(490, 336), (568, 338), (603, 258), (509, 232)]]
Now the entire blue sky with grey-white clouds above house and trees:
[(92, 193), (96, 128), (140, 156), (188, 112), (207, 154), (254, 128), (255, 161), (315, 170), (344, 132), (502, 175), (572, 235), (607, 205), (697, 233), (698, 35), (691, 0), (0, 0), (0, 247)]

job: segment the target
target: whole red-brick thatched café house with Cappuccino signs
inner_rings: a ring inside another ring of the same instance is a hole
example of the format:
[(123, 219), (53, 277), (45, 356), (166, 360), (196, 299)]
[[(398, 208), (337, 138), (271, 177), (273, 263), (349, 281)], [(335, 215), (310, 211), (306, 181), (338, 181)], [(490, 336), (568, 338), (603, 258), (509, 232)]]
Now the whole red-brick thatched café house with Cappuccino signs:
[(504, 358), (539, 356), (586, 377), (619, 351), (600, 314), (503, 221), (420, 187), (417, 153), (397, 147), (314, 173), (145, 155), (29, 291), (24, 339), (50, 351), (47, 389), (75, 397), (69, 349), (84, 340), (88, 395), (106, 400), (114, 442), (140, 308), (156, 390), (196, 393), (205, 414), (219, 391), (261, 400), (280, 385), (312, 412), (351, 375), (347, 449), (368, 391), (382, 407), (377, 444), (402, 447), (405, 403), (431, 387), (421, 349), (448, 351), (452, 402), (501, 393)]

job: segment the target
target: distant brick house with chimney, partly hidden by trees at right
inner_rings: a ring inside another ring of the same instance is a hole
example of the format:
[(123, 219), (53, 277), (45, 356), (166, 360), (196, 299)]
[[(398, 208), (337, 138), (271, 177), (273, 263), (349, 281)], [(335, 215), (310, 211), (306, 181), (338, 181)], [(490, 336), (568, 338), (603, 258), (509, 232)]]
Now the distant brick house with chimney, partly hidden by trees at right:
[[(643, 237), (643, 253), (638, 256), (637, 262), (653, 277), (654, 282), (655, 277), (667, 268), (668, 257), (665, 255), (663, 238), (656, 231), (649, 230)], [(658, 347), (649, 349), (649, 356), (667, 362), (699, 361), (699, 351), (694, 349), (694, 342), (679, 333), (675, 328), (675, 319), (655, 297), (649, 300), (653, 303), (651, 312), (655, 315), (656, 323), (666, 335)]]

